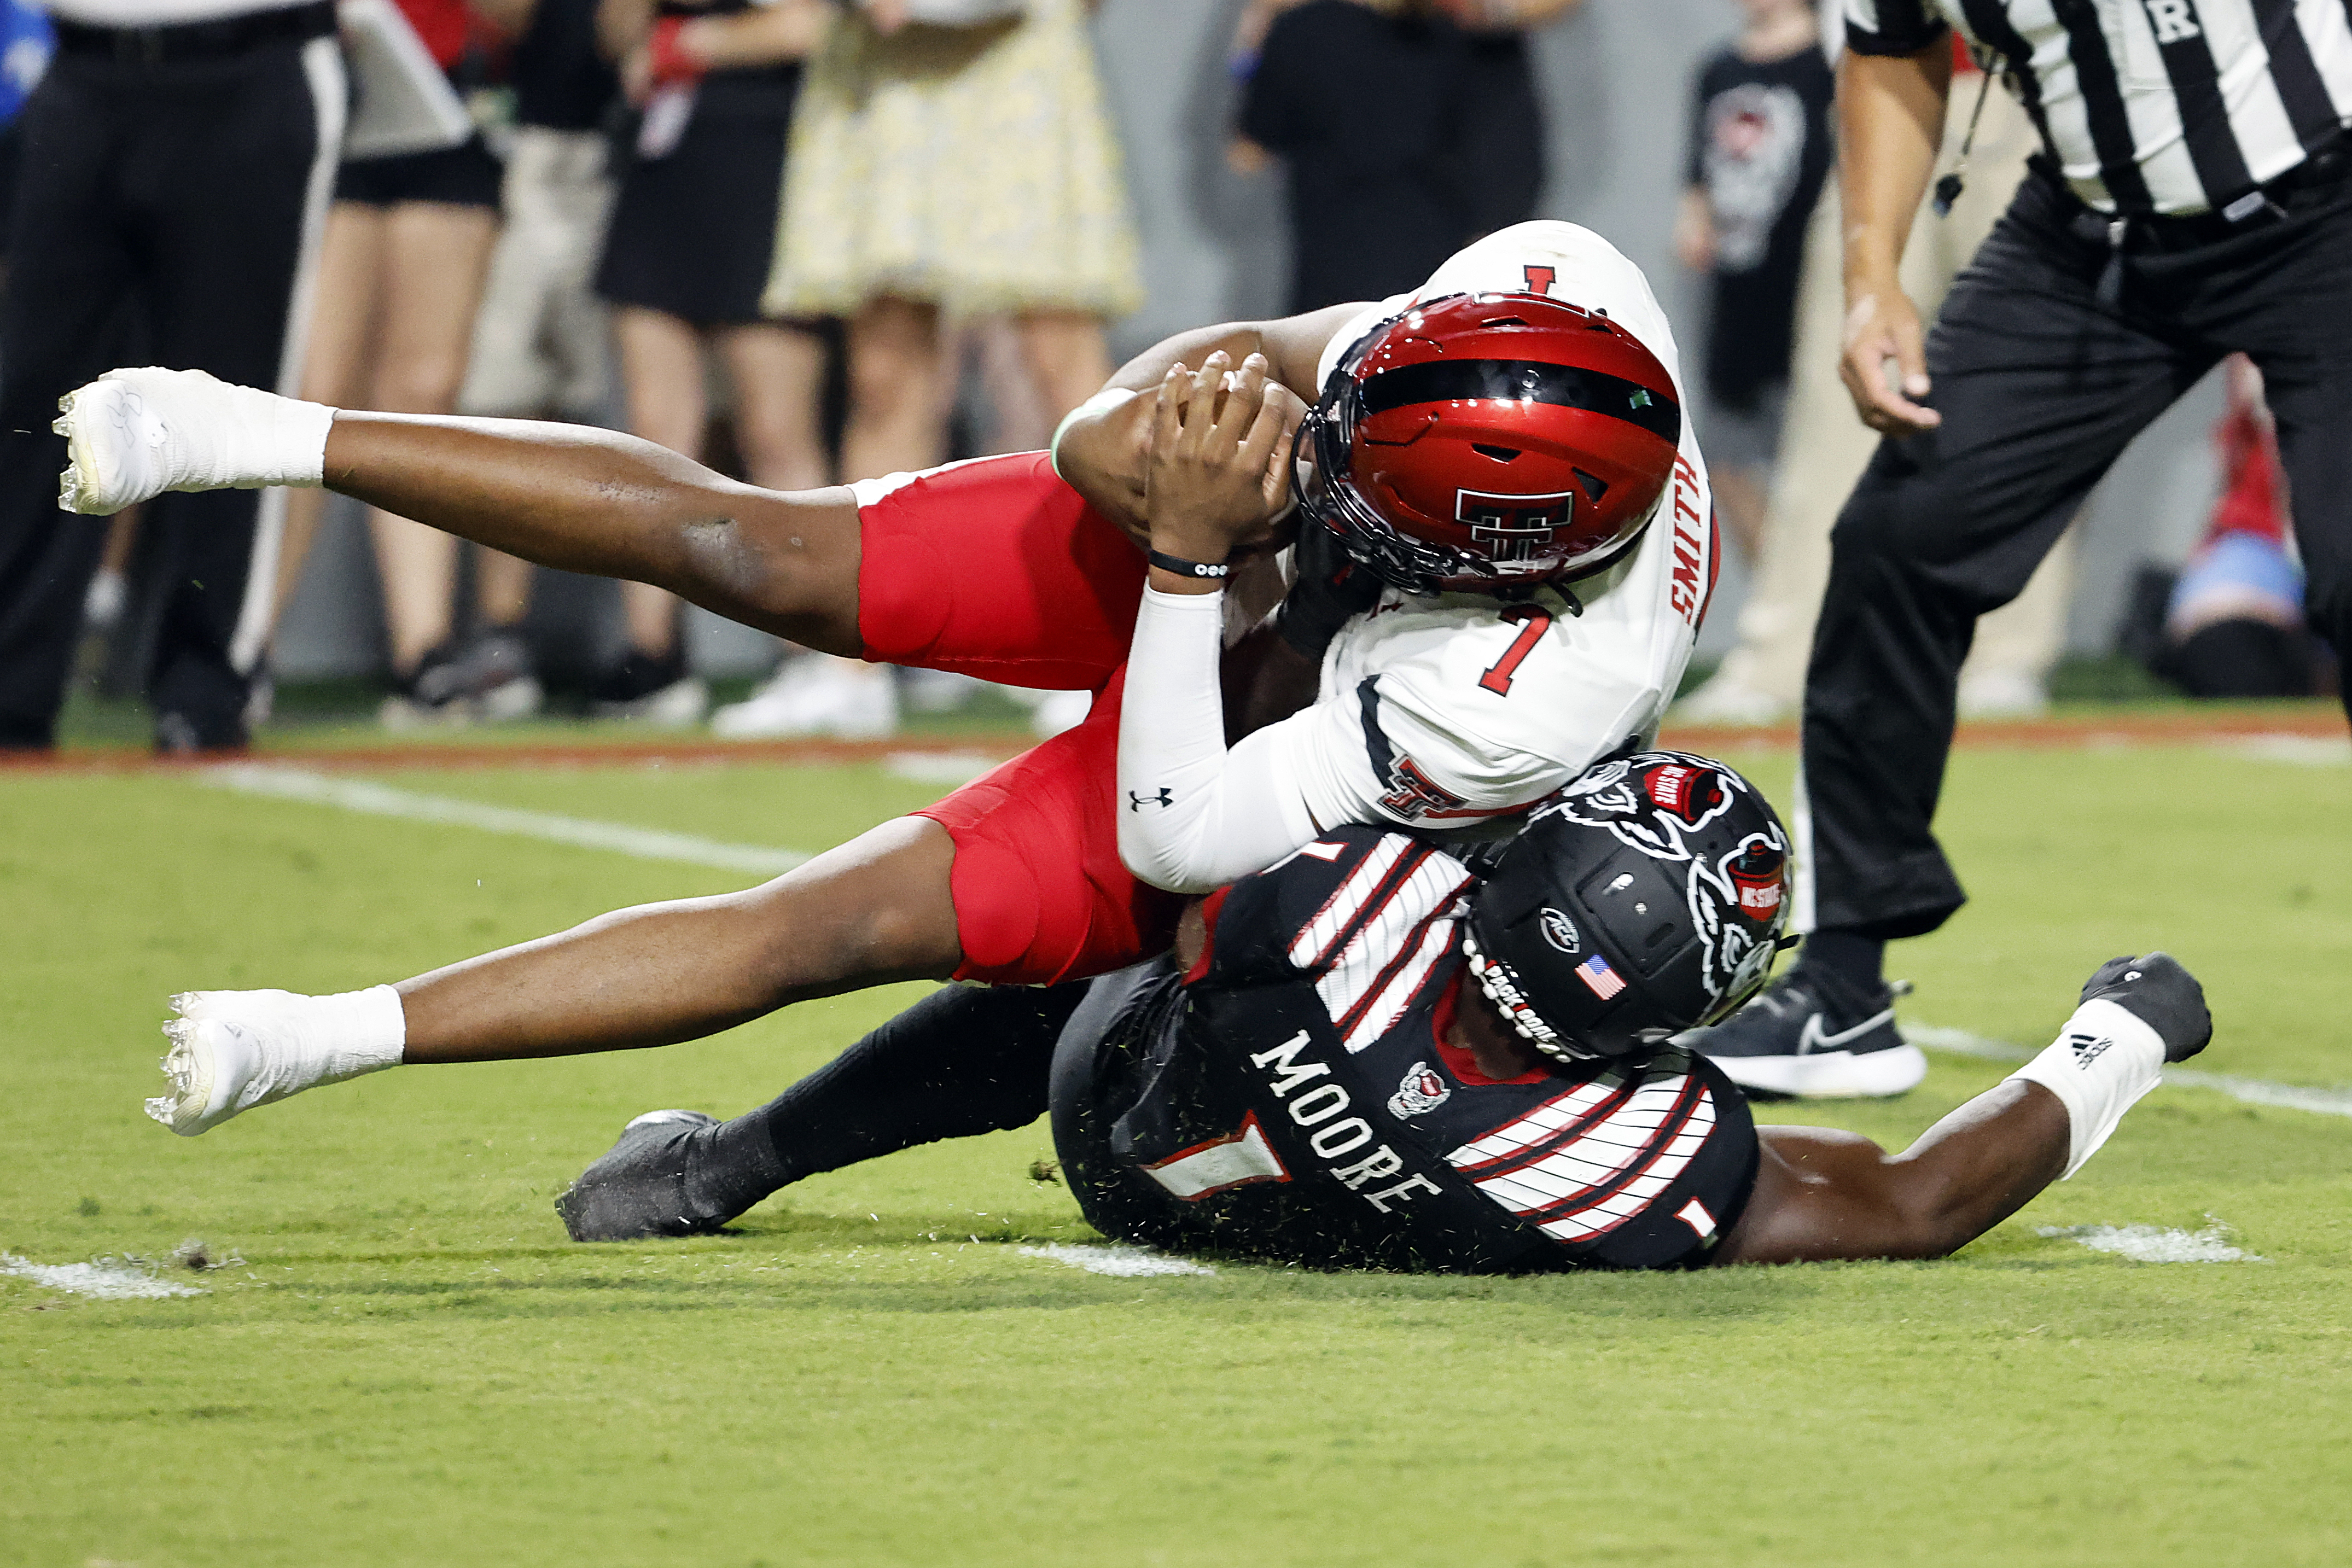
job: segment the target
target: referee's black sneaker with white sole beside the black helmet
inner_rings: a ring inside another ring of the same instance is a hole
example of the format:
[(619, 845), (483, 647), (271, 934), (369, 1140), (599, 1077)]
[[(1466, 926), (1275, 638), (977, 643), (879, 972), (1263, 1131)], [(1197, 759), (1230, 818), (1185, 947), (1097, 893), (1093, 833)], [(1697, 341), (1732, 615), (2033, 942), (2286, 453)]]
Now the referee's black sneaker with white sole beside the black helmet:
[(1872, 994), (1799, 964), (1724, 1023), (1675, 1044), (1703, 1051), (1752, 1095), (1898, 1095), (1926, 1077), (1926, 1053), (1896, 1032), (1896, 997), (1907, 990), (1910, 980), (1896, 980)]

